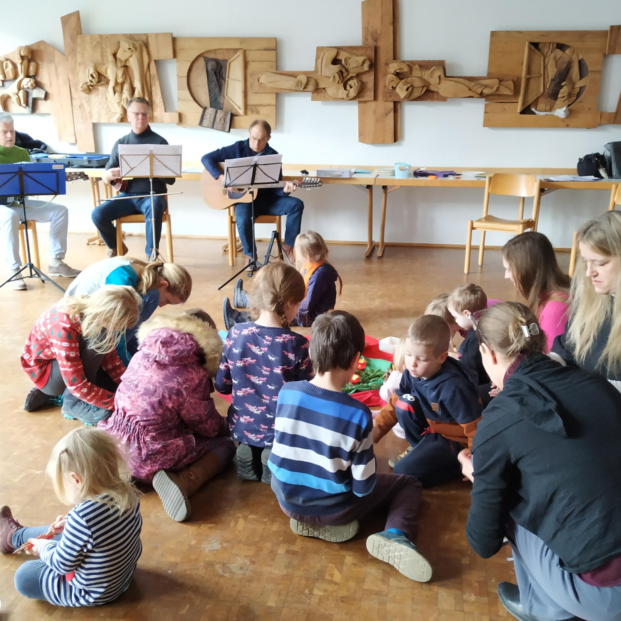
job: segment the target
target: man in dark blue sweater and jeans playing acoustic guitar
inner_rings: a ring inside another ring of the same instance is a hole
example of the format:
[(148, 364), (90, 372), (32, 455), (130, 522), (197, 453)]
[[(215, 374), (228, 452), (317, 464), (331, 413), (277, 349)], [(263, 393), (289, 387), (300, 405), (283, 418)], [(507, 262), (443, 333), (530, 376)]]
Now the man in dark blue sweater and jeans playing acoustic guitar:
[[(214, 179), (219, 179), (224, 175), (220, 165), (224, 160), (278, 153), (268, 143), (271, 138), (271, 127), (266, 120), (253, 120), (248, 132), (250, 135), (247, 140), (238, 140), (229, 147), (222, 147), (202, 156), (202, 164)], [(255, 196), (255, 218), (259, 215), (287, 216), (283, 250), (291, 261), (293, 261), (293, 245), (300, 232), (302, 211), (304, 211), (304, 203), (299, 198), (291, 196), (294, 191), (296, 191), (296, 186), (289, 181), (284, 188), (262, 188)], [(243, 202), (235, 204), (235, 220), (240, 240), (242, 240), (243, 253), (250, 261), (253, 255), (250, 204)]]

